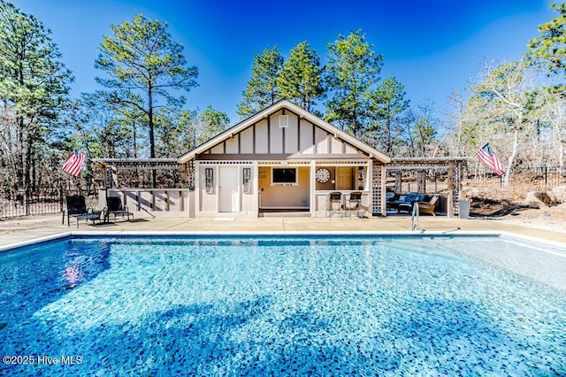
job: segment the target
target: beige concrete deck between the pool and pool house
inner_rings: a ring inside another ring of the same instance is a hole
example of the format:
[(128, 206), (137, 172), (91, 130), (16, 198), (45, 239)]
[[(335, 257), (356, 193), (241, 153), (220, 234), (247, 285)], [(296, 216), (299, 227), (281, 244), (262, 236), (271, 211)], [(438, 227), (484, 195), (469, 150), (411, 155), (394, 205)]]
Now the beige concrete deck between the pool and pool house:
[(519, 237), (537, 238), (566, 248), (566, 233), (520, 227), (498, 219), (448, 219), (446, 217), (421, 217), (419, 231), (410, 232), (411, 219), (407, 216), (389, 216), (371, 219), (326, 218), (143, 218), (134, 222), (119, 220), (110, 224), (91, 225), (72, 221), (71, 227), (61, 225), (60, 215), (43, 217), (40, 223), (26, 224), (26, 219), (0, 221), (0, 250), (8, 245), (25, 244), (36, 239), (69, 234), (124, 234), (124, 233), (414, 233), (414, 234), (466, 234), (475, 232), (501, 233)]

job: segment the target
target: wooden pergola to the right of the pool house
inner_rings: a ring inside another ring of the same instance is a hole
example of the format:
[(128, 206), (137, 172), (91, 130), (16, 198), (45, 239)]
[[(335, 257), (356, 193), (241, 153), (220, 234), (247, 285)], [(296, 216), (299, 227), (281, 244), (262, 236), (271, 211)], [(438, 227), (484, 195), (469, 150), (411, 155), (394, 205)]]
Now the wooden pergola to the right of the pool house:
[[(459, 213), (458, 200), (462, 199), (463, 167), (467, 165), (470, 158), (392, 158), (386, 166), (388, 175), (394, 175), (394, 192), (402, 193), (403, 173), (417, 173), (417, 193), (427, 193), (427, 172), (447, 172), (447, 216)], [(451, 211), (450, 211), (451, 209)]]

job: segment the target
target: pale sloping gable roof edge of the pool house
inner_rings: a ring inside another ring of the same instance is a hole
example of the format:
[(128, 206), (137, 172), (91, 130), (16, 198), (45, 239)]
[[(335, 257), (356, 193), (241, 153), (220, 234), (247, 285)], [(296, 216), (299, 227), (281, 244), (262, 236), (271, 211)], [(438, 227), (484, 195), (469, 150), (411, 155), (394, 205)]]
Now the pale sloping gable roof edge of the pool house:
[(299, 107), (296, 104), (293, 104), (293, 103), (291, 103), (287, 100), (281, 100), (281, 101), (267, 107), (263, 111), (257, 112), (255, 115), (252, 115), (248, 119), (242, 120), (240, 123), (236, 124), (233, 127), (228, 128), (223, 133), (216, 135), (215, 137), (210, 139), (208, 142), (203, 142), (203, 144), (199, 145), (195, 149), (189, 150), (187, 153), (185, 153), (182, 156), (180, 156), (179, 158), (177, 158), (177, 161), (180, 164), (184, 164), (187, 161), (195, 159), (195, 157), (197, 155), (203, 153), (206, 150), (210, 150), (210, 148), (215, 147), (220, 142), (226, 141), (227, 139), (229, 139), (233, 135), (238, 134), (241, 131), (243, 131), (244, 129), (253, 126), (254, 124), (259, 122), (260, 120), (267, 118), (273, 112), (278, 112), (281, 109), (287, 109), (291, 112), (298, 114), (299, 117), (308, 120), (310, 123), (316, 125), (317, 127), (324, 129), (329, 134), (334, 135), (335, 138), (341, 139), (344, 142), (348, 142), (349, 144), (355, 146), (358, 150), (362, 150), (363, 152), (367, 153), (368, 156), (370, 156), (370, 158), (378, 159), (379, 161), (384, 162), (384, 163), (389, 163), (391, 161), (391, 158), (389, 158), (388, 156), (386, 156), (385, 154), (383, 154), (379, 150), (376, 150), (375, 148), (369, 146), (365, 142), (361, 142), (361, 141), (357, 140), (352, 135), (348, 135), (347, 133), (345, 133), (344, 131), (340, 130), (337, 127), (334, 127), (333, 125), (331, 125), (327, 121), (318, 118), (316, 115), (311, 114), (310, 112), (303, 110), (301, 107)]

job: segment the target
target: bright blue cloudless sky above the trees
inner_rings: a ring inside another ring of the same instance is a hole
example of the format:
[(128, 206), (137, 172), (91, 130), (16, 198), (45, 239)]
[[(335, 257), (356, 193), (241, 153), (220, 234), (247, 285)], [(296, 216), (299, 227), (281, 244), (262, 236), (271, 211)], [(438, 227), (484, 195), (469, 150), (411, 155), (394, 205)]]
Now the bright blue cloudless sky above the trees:
[(175, 42), (185, 46), (190, 65), (199, 69), (199, 87), (187, 94), (187, 107), (209, 104), (239, 120), (237, 104), (251, 75), (253, 57), (277, 44), (286, 58), (302, 41), (310, 42), (323, 64), (329, 42), (362, 29), (383, 55), (381, 77), (395, 76), (412, 104), (431, 99), (437, 114), (447, 98), (469, 86), (470, 77), (491, 58), (518, 58), (538, 35), (537, 27), (555, 18), (551, 0), (406, 0), (287, 2), (218, 0), (14, 0), (52, 31), (63, 61), (75, 76), (73, 96), (99, 88), (94, 67), (110, 25), (138, 13), (169, 24)]

